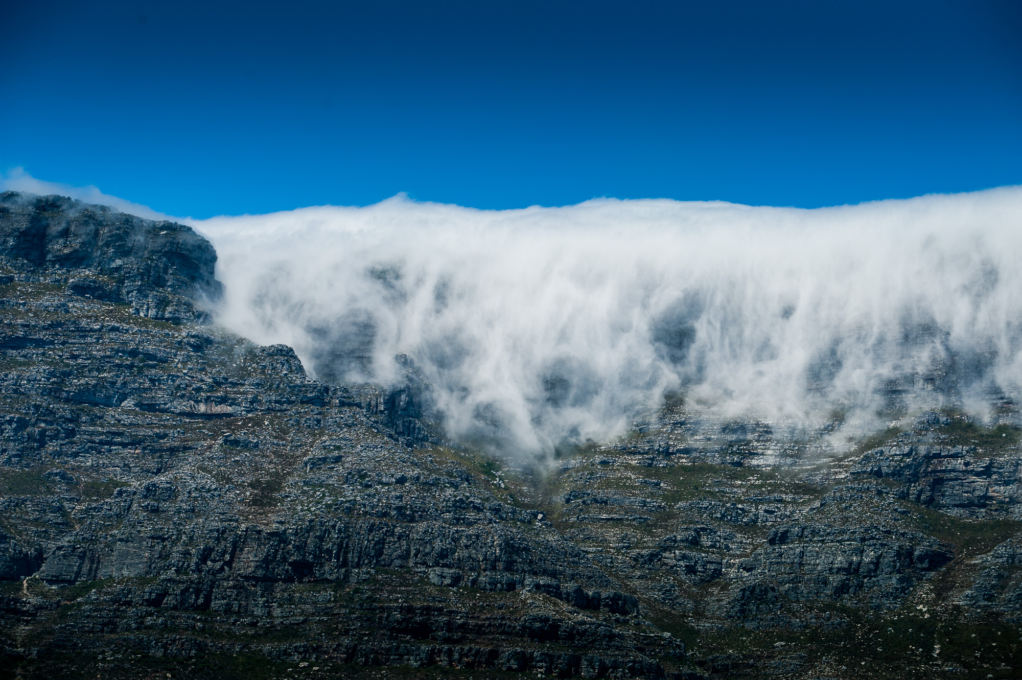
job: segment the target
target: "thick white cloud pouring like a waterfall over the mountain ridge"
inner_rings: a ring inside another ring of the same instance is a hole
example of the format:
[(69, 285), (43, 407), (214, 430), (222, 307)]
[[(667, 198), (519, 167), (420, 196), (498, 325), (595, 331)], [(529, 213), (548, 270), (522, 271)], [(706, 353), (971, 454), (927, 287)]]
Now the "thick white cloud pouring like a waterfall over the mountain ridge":
[(221, 321), (328, 380), (410, 356), (456, 436), (621, 433), (683, 390), (735, 414), (978, 407), (1022, 385), (1022, 189), (822, 209), (397, 197), (193, 223)]

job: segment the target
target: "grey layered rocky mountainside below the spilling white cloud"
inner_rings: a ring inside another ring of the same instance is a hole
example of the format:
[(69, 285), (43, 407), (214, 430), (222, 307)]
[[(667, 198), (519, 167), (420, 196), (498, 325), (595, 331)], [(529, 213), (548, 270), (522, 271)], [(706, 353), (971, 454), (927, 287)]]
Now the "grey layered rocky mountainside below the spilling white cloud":
[(1010, 404), (528, 469), (198, 325), (187, 227), (6, 193), (0, 257), (0, 677), (1017, 677)]

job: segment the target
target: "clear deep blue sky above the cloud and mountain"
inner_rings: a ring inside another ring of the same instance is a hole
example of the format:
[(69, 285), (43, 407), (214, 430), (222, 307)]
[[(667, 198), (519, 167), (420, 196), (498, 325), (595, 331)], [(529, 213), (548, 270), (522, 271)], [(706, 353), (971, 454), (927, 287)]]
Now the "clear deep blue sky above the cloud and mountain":
[(4, 3), (0, 172), (179, 215), (1022, 184), (1022, 3)]

